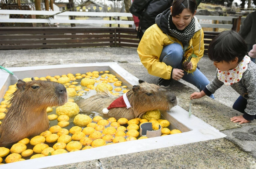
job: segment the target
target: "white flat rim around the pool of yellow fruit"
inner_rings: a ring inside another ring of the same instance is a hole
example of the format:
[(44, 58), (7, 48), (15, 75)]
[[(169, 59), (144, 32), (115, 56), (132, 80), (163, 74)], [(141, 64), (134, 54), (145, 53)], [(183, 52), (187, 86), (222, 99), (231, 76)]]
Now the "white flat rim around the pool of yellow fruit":
[[(131, 85), (138, 83), (138, 78), (131, 75), (129, 72), (121, 68), (117, 63), (93, 63), (93, 64), (70, 64), (70, 65), (49, 65), (49, 66), (31, 66), (31, 67), (20, 67), (20, 68), (8, 68), (13, 71), (18, 78), (19, 73), (26, 73), (26, 77), (35, 77), (38, 71), (49, 72), (47, 69), (55, 70), (52, 75), (62, 75), (71, 72), (70, 69), (76, 69), (76, 72), (86, 72), (87, 67), (94, 67), (94, 70), (100, 70), (102, 66), (108, 66), (111, 70), (115, 71), (120, 75), (121, 78), (126, 80)], [(38, 68), (38, 69), (37, 69)], [(65, 70), (63, 70), (65, 68)], [(8, 79), (11, 76), (8, 73), (1, 72), (0, 70), (0, 87), (4, 86), (4, 79)], [(65, 72), (64, 72), (65, 71)], [(51, 72), (51, 71), (50, 71)], [(50, 73), (49, 72), (49, 73)], [(48, 74), (47, 74), (48, 75)], [(6, 78), (7, 76), (7, 78)], [(13, 77), (11, 77), (13, 78)], [(13, 78), (14, 79), (14, 78)], [(8, 83), (8, 82), (5, 82)], [(1, 89), (1, 88), (0, 88)], [(1, 93), (0, 93), (1, 94)], [(47, 156), (38, 159), (25, 160), (17, 163), (4, 164), (1, 168), (26, 168), (26, 169), (37, 169), (52, 166), (59, 166), (63, 164), (76, 163), (88, 160), (95, 160), (104, 157), (129, 154), (135, 152), (141, 152), (146, 150), (152, 150), (157, 148), (170, 147), (175, 145), (183, 145), (187, 143), (206, 141), (212, 139), (223, 138), (226, 135), (220, 133), (214, 127), (206, 124), (204, 121), (198, 119), (194, 115), (188, 116), (188, 112), (179, 106), (172, 108), (171, 112), (168, 112), (175, 122), (184, 125), (191, 131), (167, 136), (160, 136), (150, 139), (142, 139), (136, 141), (128, 141), (117, 143), (114, 145), (108, 145), (103, 147), (97, 147), (93, 149), (81, 150), (77, 152), (59, 154), (54, 156)]]

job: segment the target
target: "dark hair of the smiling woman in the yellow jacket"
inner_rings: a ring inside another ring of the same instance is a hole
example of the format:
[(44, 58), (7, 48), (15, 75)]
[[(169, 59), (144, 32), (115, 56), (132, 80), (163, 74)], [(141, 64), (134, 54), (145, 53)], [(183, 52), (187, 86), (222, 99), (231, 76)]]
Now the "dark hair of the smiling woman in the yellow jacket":
[(179, 15), (185, 8), (193, 14), (197, 10), (196, 0), (174, 0), (172, 2), (172, 16)]

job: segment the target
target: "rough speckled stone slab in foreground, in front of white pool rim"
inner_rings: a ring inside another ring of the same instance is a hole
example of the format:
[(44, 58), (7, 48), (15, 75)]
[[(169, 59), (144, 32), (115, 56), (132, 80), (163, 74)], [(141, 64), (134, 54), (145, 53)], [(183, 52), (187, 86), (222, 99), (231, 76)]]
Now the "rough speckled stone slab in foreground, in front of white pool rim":
[[(153, 146), (153, 145), (152, 145)], [(255, 159), (225, 138), (99, 159), (102, 169), (255, 169)], [(98, 169), (97, 161), (47, 169)]]

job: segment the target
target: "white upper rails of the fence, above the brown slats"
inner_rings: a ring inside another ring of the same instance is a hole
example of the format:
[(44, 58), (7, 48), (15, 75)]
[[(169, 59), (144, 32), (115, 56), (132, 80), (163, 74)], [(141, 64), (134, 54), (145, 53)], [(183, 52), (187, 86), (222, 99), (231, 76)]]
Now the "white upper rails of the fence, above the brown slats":
[[(10, 19), (10, 14), (23, 15), (53, 15), (49, 19)], [(59, 11), (38, 11), (38, 10), (0, 10), (0, 23), (76, 23), (76, 24), (128, 24), (131, 25), (133, 21), (127, 20), (70, 20), (69, 16), (100, 16), (100, 17), (132, 17), (131, 13), (114, 13), (114, 12), (59, 12)], [(197, 19), (204, 20), (221, 20), (232, 21), (235, 16), (204, 16), (196, 15)], [(245, 17), (242, 17), (241, 23)], [(226, 28), (231, 29), (232, 24), (206, 24), (200, 23), (202, 27), (209, 28)]]

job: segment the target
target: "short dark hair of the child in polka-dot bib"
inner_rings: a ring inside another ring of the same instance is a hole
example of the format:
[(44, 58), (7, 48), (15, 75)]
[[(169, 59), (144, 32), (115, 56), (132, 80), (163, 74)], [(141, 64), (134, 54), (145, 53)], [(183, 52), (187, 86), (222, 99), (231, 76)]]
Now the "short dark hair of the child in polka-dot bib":
[(238, 57), (241, 62), (247, 54), (247, 44), (243, 37), (233, 30), (217, 35), (209, 44), (208, 56), (215, 62), (230, 62)]

